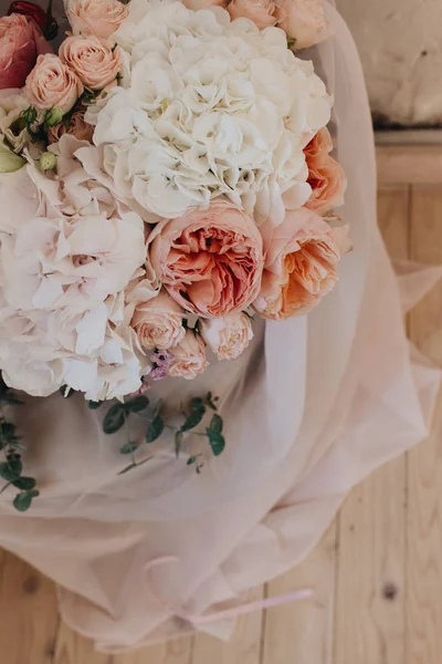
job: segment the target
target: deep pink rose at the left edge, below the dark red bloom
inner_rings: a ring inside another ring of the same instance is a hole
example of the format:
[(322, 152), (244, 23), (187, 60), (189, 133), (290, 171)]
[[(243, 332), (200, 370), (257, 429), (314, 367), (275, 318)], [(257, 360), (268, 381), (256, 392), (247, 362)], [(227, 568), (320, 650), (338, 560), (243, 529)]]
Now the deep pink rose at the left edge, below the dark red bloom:
[(52, 51), (36, 23), (22, 14), (0, 19), (0, 90), (23, 87), (41, 53)]

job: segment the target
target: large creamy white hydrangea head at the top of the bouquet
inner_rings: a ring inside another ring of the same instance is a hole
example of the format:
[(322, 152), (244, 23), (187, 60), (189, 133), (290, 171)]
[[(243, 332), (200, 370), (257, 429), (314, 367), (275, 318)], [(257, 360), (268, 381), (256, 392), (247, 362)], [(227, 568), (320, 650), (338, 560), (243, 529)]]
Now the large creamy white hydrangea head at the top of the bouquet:
[(114, 37), (126, 53), (122, 85), (86, 118), (120, 200), (155, 221), (223, 195), (275, 225), (305, 204), (303, 148), (332, 100), (282, 30), (218, 7), (131, 0)]

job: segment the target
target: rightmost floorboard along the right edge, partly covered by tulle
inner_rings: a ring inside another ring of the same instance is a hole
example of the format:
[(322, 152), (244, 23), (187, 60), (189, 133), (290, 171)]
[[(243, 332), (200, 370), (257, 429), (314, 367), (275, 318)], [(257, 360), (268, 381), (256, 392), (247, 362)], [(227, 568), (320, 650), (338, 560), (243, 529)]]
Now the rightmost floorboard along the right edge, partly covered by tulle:
[[(442, 263), (442, 191), (413, 190), (411, 256)], [(442, 363), (442, 286), (410, 317), (411, 338)], [(440, 664), (442, 653), (442, 400), (429, 440), (408, 457), (408, 604), (406, 664)]]

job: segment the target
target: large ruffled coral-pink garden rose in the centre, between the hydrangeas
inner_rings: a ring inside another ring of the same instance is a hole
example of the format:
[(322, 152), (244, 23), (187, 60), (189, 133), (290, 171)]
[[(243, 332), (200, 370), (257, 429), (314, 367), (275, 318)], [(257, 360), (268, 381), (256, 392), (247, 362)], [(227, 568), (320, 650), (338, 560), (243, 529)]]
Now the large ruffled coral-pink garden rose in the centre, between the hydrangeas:
[(245, 309), (260, 290), (264, 263), (260, 231), (229, 203), (164, 219), (148, 246), (151, 266), (169, 294), (203, 318)]

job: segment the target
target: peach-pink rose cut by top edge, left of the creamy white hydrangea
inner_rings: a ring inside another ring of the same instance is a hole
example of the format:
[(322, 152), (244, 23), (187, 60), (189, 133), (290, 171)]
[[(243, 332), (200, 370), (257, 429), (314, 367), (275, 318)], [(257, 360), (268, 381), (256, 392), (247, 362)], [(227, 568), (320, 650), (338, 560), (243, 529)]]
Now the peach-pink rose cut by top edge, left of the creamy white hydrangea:
[(73, 34), (95, 34), (108, 39), (128, 17), (118, 0), (74, 0), (66, 11)]

